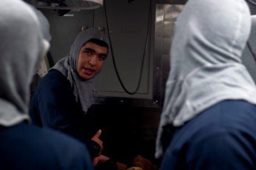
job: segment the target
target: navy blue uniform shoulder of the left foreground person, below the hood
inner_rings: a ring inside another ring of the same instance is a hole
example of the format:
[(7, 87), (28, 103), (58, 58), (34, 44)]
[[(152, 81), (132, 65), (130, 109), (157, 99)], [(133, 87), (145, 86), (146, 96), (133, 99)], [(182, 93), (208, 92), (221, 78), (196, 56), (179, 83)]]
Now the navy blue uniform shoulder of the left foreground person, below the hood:
[(68, 135), (27, 122), (0, 128), (1, 170), (94, 169), (86, 146)]

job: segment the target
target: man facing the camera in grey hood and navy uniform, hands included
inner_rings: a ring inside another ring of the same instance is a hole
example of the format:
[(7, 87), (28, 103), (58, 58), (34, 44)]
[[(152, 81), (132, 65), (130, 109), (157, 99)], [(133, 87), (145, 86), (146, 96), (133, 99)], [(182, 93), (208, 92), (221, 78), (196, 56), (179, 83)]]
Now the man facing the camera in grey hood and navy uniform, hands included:
[[(89, 138), (86, 112), (95, 94), (94, 78), (107, 58), (106, 37), (98, 28), (78, 34), (68, 56), (62, 58), (40, 80), (32, 95), (33, 124), (66, 133), (86, 144), (91, 157), (103, 148), (101, 130)], [(100, 157), (105, 160), (107, 157)], [(108, 159), (108, 158), (107, 158)], [(95, 159), (95, 163), (101, 159)]]

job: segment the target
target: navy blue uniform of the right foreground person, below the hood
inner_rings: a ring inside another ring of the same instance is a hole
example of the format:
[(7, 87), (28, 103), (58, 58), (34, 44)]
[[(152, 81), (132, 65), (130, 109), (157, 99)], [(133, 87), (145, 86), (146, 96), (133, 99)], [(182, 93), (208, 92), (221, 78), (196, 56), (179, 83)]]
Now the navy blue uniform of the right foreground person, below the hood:
[(226, 100), (176, 128), (161, 169), (256, 169), (256, 106)]

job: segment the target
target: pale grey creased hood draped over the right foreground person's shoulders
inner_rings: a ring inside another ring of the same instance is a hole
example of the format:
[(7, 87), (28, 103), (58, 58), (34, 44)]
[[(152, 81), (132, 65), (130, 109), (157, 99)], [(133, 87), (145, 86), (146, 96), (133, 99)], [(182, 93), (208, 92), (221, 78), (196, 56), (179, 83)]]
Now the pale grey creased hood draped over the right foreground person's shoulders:
[(250, 28), (250, 10), (244, 0), (186, 3), (171, 45), (157, 158), (163, 153), (163, 126), (182, 126), (223, 100), (256, 104), (254, 82), (241, 64)]

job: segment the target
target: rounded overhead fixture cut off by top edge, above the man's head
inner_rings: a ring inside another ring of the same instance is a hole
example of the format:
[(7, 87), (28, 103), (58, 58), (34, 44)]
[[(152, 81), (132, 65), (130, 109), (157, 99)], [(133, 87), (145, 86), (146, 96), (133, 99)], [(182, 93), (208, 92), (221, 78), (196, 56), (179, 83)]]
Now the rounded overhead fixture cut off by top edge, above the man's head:
[(54, 10), (90, 10), (103, 5), (103, 0), (24, 0), (37, 8)]

